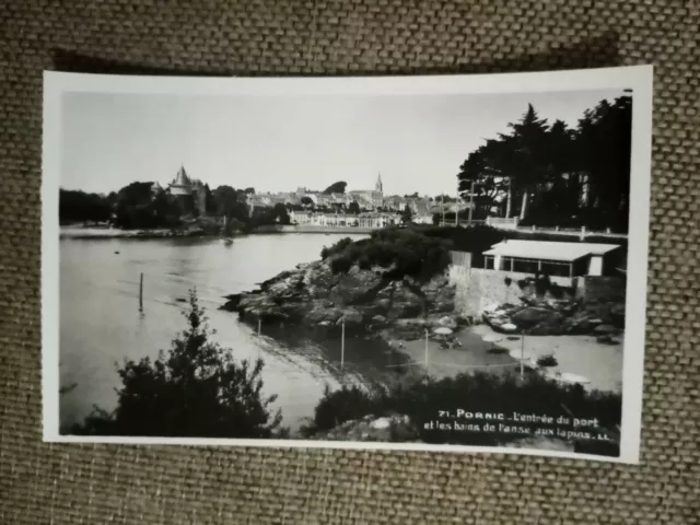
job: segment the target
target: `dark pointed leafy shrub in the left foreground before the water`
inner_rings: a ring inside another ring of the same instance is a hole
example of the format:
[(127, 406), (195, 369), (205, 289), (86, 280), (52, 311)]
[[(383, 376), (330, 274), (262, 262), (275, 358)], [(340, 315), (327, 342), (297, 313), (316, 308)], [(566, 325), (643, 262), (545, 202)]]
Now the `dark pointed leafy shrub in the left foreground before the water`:
[(276, 396), (262, 395), (264, 362), (236, 362), (230, 349), (211, 340), (195, 291), (185, 313), (187, 329), (159, 358), (126, 361), (112, 413), (95, 411), (73, 434), (177, 438), (272, 438), (281, 413)]

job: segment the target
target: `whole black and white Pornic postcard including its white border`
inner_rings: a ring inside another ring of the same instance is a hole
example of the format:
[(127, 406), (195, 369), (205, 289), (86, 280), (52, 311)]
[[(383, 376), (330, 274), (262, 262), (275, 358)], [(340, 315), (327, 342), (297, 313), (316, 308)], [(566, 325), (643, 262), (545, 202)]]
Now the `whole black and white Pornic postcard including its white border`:
[(46, 72), (45, 441), (639, 462), (651, 79)]

